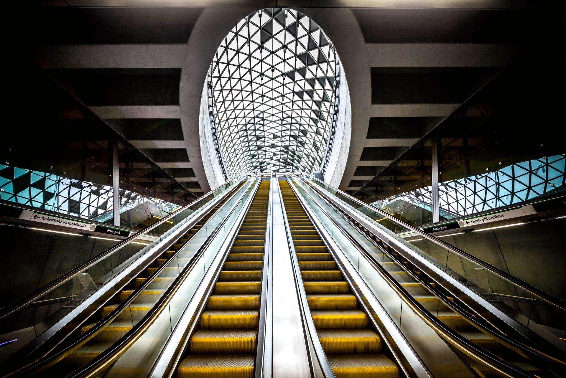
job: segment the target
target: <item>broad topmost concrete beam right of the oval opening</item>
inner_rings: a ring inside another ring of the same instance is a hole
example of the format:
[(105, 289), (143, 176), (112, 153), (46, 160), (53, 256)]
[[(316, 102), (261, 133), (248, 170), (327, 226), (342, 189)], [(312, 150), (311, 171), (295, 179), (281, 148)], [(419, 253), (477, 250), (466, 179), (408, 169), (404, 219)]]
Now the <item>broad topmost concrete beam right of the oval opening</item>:
[(505, 67), (514, 44), (366, 44), (371, 67)]

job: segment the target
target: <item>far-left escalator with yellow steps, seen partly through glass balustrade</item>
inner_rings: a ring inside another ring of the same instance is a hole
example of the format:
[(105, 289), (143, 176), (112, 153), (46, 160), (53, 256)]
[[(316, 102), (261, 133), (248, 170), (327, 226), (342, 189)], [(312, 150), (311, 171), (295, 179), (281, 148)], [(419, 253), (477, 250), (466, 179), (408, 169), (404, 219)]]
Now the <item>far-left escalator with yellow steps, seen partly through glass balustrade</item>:
[[(88, 332), (92, 327), (95, 327), (97, 322), (100, 321), (105, 316), (109, 315), (119, 306), (121, 302), (126, 300), (132, 293), (134, 293), (135, 288), (142, 285), (145, 280), (152, 273), (154, 273), (161, 265), (168, 263), (171, 256), (174, 256), (178, 261), (187, 261), (188, 255), (192, 252), (190, 251), (179, 251), (192, 237), (203, 227), (206, 222), (211, 218), (217, 211), (233, 196), (238, 189), (243, 185), (243, 182), (239, 184), (230, 195), (224, 197), (218, 204), (211, 209), (204, 217), (202, 217), (199, 222), (193, 226), (187, 233), (185, 233), (176, 242), (171, 244), (171, 246), (166, 250), (160, 257), (155, 259), (151, 266), (147, 267), (143, 273), (131, 280), (125, 290), (122, 290), (117, 295), (109, 301), (109, 304), (104, 306), (102, 310), (97, 314), (97, 316), (92, 316), (89, 319), (91, 322), (88, 325), (83, 325), (80, 328), (80, 334)], [(187, 256), (184, 256), (187, 255)], [(72, 353), (68, 354), (65, 359), (60, 363), (56, 364), (54, 367), (50, 368), (49, 373), (63, 373), (70, 370), (74, 370), (79, 366), (83, 366), (90, 360), (95, 358), (97, 355), (101, 354), (103, 351), (108, 349), (113, 345), (114, 342), (122, 338), (129, 330), (132, 329), (133, 325), (137, 323), (153, 306), (153, 303), (161, 296), (165, 288), (173, 280), (175, 274), (178, 273), (178, 267), (165, 267), (164, 276), (153, 278), (153, 281), (149, 286), (141, 291), (138, 298), (136, 298), (135, 303), (132, 303), (128, 310), (122, 311), (122, 313), (115, 319), (108, 327), (105, 327), (100, 333), (98, 333), (92, 340), (80, 346)]]

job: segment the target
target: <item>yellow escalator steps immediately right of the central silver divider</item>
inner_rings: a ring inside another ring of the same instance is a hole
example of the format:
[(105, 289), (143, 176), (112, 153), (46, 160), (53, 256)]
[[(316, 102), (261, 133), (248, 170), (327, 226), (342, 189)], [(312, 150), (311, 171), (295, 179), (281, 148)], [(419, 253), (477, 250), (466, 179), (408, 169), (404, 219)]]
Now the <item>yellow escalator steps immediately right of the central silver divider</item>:
[(308, 306), (332, 371), (337, 378), (400, 376), (289, 183), (279, 184)]

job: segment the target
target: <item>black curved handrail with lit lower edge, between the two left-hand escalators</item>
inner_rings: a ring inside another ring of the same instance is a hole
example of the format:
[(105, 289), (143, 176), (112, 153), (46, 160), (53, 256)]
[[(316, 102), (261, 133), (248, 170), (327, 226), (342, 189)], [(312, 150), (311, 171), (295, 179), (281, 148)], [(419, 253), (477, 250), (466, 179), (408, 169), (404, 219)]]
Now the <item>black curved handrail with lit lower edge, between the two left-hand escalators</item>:
[[(250, 188), (253, 188), (254, 186), (258, 185), (256, 185), (256, 183), (252, 183), (246, 191), (249, 191)], [(249, 196), (247, 198), (249, 199)], [(191, 273), (192, 269), (199, 262), (200, 257), (203, 256), (204, 251), (207, 249), (212, 240), (215, 239), (222, 225), (224, 225), (226, 220), (228, 220), (228, 218), (230, 217), (230, 214), (235, 211), (238, 204), (243, 200), (246, 200), (246, 195), (242, 195), (242, 197), (238, 200), (238, 202), (234, 205), (230, 212), (226, 214), (226, 216), (215, 227), (212, 233), (208, 235), (207, 239), (204, 241), (199, 250), (191, 257), (191, 260), (188, 261), (187, 265), (185, 265), (185, 268), (183, 268), (183, 270), (179, 273), (175, 280), (171, 282), (171, 284), (167, 287), (161, 297), (149, 309), (148, 313), (146, 313), (144, 317), (142, 317), (138, 321), (138, 323), (136, 323), (134, 327), (132, 327), (132, 329), (130, 329), (120, 340), (115, 342), (103, 353), (96, 356), (84, 366), (78, 368), (74, 372), (71, 372), (69, 375), (67, 375), (67, 377), (90, 377), (95, 375), (97, 372), (100, 372), (102, 369), (109, 366), (109, 364), (117, 360), (143, 335), (143, 333), (149, 327), (151, 327), (151, 325), (161, 315), (161, 312), (165, 310), (166, 306), (168, 306), (170, 300), (173, 298), (175, 293), (177, 293), (179, 287), (181, 287), (188, 274)]]

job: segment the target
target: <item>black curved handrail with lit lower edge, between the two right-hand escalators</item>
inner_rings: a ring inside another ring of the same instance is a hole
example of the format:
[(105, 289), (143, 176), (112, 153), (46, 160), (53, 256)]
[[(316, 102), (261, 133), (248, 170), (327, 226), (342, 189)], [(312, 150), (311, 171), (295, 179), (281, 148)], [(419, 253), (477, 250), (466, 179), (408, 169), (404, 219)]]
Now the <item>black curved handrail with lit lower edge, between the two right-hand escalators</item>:
[[(306, 192), (306, 191), (305, 191)], [(486, 366), (492, 368), (499, 373), (504, 374), (509, 378), (513, 377), (529, 377), (533, 378), (534, 375), (530, 375), (529, 373), (525, 373), (524, 371), (518, 369), (517, 367), (505, 362), (504, 360), (500, 360), (497, 356), (492, 355), (488, 351), (484, 351), (480, 349), (477, 345), (470, 342), (466, 338), (460, 336), (460, 334), (454, 332), (451, 328), (448, 328), (447, 325), (440, 322), (440, 320), (436, 319), (431, 313), (429, 313), (422, 304), (418, 303), (416, 299), (411, 296), (408, 291), (405, 290), (404, 287), (401, 286), (399, 282), (385, 270), (385, 268), (381, 267), (381, 265), (375, 263), (374, 259), (368, 258), (367, 251), (357, 240), (355, 240), (351, 235), (348, 233), (344, 227), (338, 223), (328, 212), (326, 209), (320, 206), (318, 201), (316, 201), (308, 192), (306, 194), (310, 197), (314, 203), (317, 204), (320, 211), (324, 213), (329, 220), (331, 220), (332, 224), (336, 226), (346, 238), (349, 239), (350, 243), (352, 243), (358, 250), (361, 252), (362, 255), (366, 256), (366, 260), (374, 267), (374, 270), (378, 271), (380, 276), (387, 281), (387, 284), (401, 297), (404, 302), (406, 302), (411, 310), (413, 310), (417, 315), (425, 322), (429, 327), (431, 327), (436, 333), (439, 334), (445, 341), (450, 343), (453, 346), (456, 346), (457, 349), (462, 351), (463, 353), (471, 356), (471, 358), (478, 360), (479, 362), (485, 364)]]

